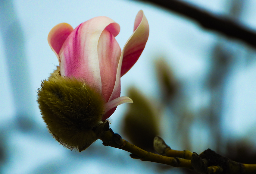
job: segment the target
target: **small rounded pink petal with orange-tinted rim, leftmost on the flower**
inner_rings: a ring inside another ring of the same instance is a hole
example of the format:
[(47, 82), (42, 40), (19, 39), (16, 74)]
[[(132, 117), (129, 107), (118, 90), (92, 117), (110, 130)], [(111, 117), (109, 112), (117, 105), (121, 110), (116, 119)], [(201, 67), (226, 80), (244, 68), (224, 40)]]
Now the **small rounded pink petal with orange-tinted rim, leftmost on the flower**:
[(67, 23), (60, 23), (52, 28), (52, 30), (48, 34), (48, 43), (52, 49), (52, 51), (57, 56), (59, 62), (59, 52), (61, 47), (70, 33), (73, 31), (73, 27), (71, 27)]

